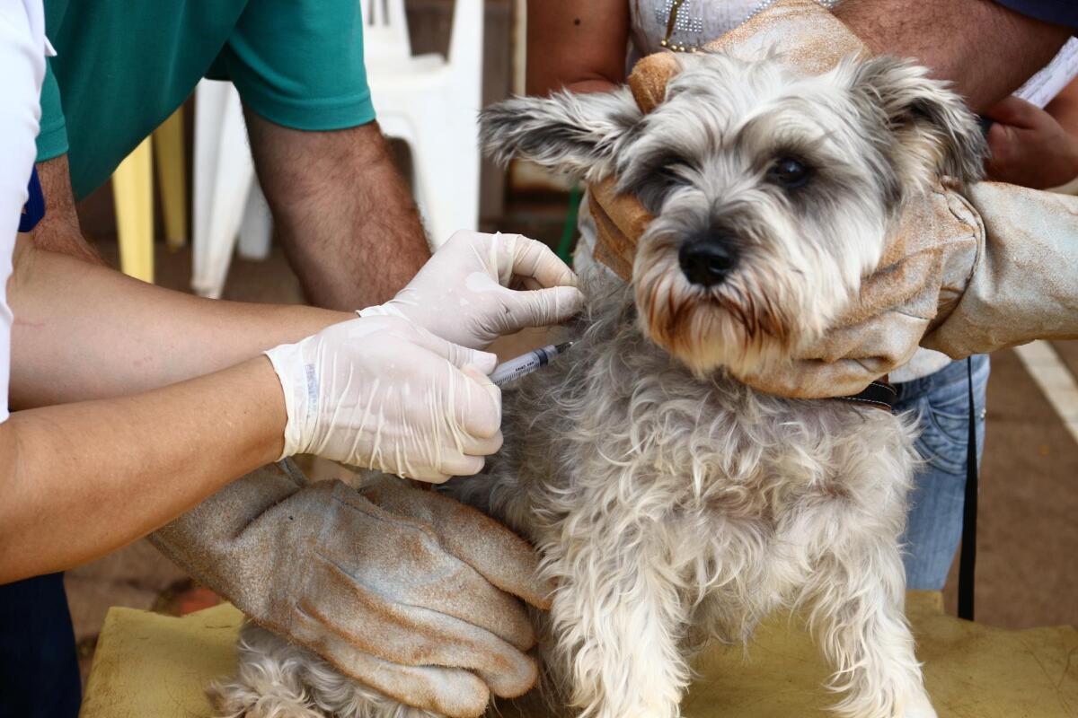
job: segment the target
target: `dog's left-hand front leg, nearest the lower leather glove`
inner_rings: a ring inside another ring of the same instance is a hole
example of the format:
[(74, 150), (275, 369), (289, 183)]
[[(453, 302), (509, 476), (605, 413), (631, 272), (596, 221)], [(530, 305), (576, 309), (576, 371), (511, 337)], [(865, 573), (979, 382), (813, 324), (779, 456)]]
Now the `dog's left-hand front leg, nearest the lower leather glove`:
[(676, 718), (686, 608), (663, 529), (578, 527), (548, 557), (555, 685), (581, 718)]

